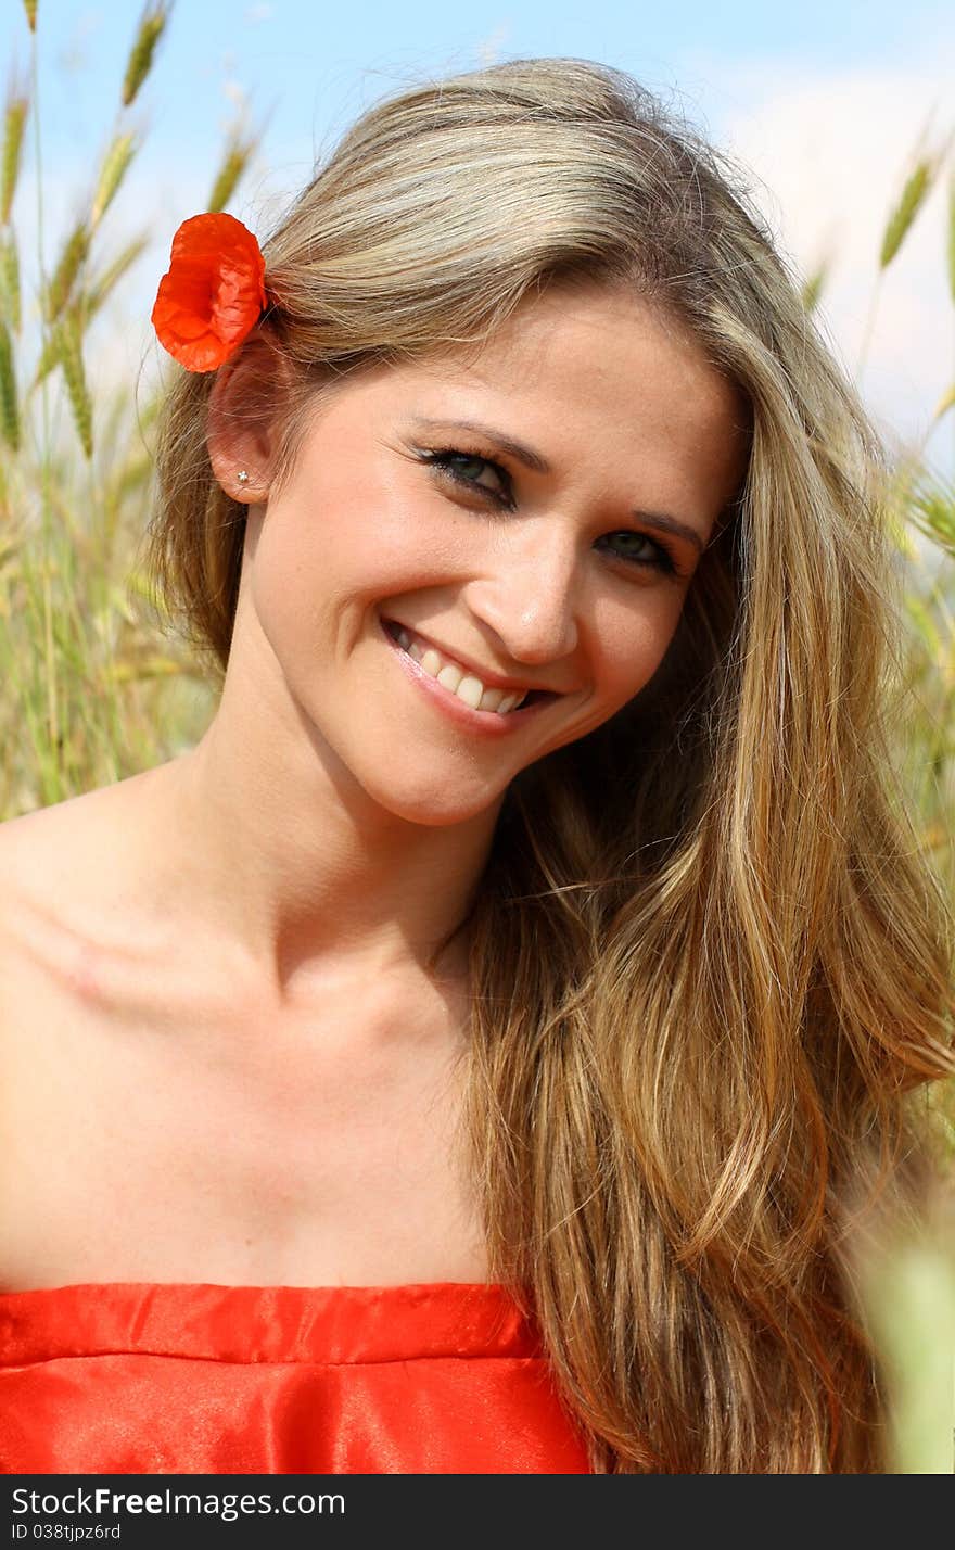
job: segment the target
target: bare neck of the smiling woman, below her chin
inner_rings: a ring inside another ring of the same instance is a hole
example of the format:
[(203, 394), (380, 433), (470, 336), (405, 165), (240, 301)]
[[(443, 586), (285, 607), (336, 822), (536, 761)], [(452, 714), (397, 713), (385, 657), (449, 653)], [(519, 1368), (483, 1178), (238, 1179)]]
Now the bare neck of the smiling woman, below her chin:
[(290, 701), (257, 694), (248, 673), (242, 693), (234, 684), (226, 674), (200, 744), (163, 766), (174, 896), (228, 936), (279, 1004), (307, 1004), (344, 973), (459, 978), (467, 938), (439, 947), (468, 913), (501, 803), (445, 826), (406, 822), (369, 798)]

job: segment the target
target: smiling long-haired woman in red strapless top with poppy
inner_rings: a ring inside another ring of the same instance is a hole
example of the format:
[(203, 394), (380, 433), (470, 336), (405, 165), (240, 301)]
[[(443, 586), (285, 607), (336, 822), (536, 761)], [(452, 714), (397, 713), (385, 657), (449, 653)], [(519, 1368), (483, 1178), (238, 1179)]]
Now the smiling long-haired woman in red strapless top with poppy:
[(346, 133), (220, 356), (166, 310), (150, 560), (222, 701), (5, 829), (5, 1311), (34, 1358), (155, 1297), (233, 1362), (302, 1359), (302, 1293), (481, 1331), (386, 1342), (388, 1398), (310, 1345), (295, 1421), (233, 1375), (225, 1448), (119, 1366), (127, 1442), (54, 1468), (884, 1468), (846, 1231), (930, 1172), (950, 921), (887, 784), (881, 448), (732, 181), (515, 60)]

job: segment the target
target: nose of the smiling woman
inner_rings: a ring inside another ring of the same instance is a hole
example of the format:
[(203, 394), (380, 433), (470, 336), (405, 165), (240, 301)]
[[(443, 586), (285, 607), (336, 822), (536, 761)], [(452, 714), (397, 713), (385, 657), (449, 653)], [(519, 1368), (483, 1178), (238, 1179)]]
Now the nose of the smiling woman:
[(574, 536), (541, 524), (535, 535), (509, 535), (465, 587), (465, 601), (501, 639), (513, 662), (543, 665), (577, 649), (580, 575)]

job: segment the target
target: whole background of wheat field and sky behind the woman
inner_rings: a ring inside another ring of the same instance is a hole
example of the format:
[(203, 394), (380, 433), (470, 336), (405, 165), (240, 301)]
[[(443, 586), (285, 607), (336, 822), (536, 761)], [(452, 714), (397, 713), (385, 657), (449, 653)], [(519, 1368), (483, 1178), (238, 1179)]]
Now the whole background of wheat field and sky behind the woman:
[[(805, 304), (893, 453), (907, 649), (898, 764), (955, 899), (955, 20), (915, 0), (679, 16), (471, 6), (5, 6), (0, 161), (0, 818), (191, 746), (217, 682), (164, 626), (141, 539), (172, 232), (264, 234), (384, 91), (532, 54), (629, 70), (752, 174)], [(484, 16), (474, 12), (484, 11)], [(324, 12), (324, 8), (322, 8)], [(946, 1116), (955, 1178), (955, 1094)], [(952, 1209), (873, 1273), (899, 1472), (949, 1472)], [(943, 1218), (947, 1226), (943, 1228)], [(888, 1311), (891, 1310), (891, 1311)]]

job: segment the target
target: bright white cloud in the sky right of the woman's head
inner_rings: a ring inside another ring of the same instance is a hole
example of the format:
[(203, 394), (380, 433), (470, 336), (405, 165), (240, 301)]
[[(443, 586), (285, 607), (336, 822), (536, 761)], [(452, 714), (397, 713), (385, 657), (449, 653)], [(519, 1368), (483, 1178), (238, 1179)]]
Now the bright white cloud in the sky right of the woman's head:
[[(693, 60), (693, 74), (705, 81), (704, 127), (757, 175), (753, 197), (781, 250), (803, 274), (831, 253), (820, 321), (853, 375), (888, 214), (916, 149), (941, 147), (950, 132), (953, 64), (947, 42), (921, 68), (907, 62), (811, 73), (771, 59)], [(955, 372), (946, 191), (947, 169), (877, 293), (862, 391), (893, 443), (927, 436)], [(950, 473), (950, 418), (936, 426), (927, 453)]]

